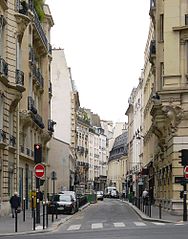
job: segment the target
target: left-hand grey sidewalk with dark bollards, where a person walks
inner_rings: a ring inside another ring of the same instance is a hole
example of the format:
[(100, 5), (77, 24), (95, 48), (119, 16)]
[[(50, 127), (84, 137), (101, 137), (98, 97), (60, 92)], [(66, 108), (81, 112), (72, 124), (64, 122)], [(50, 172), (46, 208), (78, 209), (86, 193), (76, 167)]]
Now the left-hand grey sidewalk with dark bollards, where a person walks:
[[(79, 211), (83, 210), (87, 207), (89, 203), (85, 204)], [(26, 210), (25, 221), (23, 221), (23, 212), (18, 214), (18, 226), (17, 232), (15, 232), (15, 218), (12, 218), (12, 215), (0, 217), (0, 237), (14, 235), (16, 234), (33, 234), (33, 233), (43, 233), (50, 232), (55, 230), (60, 224), (69, 220), (73, 215), (61, 214), (58, 215), (58, 219), (56, 219), (56, 215), (54, 215), (54, 222), (52, 222), (52, 215), (48, 215), (48, 228), (43, 229), (43, 215), (41, 211), (40, 224), (36, 224), (35, 230), (33, 230), (33, 220), (31, 210)], [(45, 221), (46, 225), (46, 221)]]

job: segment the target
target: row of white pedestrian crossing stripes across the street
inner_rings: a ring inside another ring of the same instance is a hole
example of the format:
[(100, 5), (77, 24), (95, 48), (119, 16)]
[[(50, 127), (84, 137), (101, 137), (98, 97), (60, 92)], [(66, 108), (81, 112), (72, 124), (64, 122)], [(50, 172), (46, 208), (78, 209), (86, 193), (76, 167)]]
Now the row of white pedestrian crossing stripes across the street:
[[(110, 223), (91, 223), (91, 224), (74, 224), (68, 226), (66, 229), (67, 231), (78, 231), (78, 230), (96, 230), (96, 229), (104, 229), (104, 228), (109, 228), (109, 227), (114, 227), (114, 228), (126, 228), (126, 227), (146, 227), (146, 226), (164, 226), (167, 225), (168, 223), (163, 223), (163, 222), (141, 222), (141, 221), (135, 221), (135, 222), (112, 222)], [(169, 225), (169, 224), (168, 224)]]

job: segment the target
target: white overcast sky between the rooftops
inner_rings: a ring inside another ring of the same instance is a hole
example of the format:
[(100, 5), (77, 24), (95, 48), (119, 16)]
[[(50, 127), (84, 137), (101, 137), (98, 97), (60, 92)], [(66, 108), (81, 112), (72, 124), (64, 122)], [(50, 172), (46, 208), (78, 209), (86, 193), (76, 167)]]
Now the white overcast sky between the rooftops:
[(46, 0), (81, 107), (101, 119), (126, 121), (128, 98), (144, 65), (149, 0)]

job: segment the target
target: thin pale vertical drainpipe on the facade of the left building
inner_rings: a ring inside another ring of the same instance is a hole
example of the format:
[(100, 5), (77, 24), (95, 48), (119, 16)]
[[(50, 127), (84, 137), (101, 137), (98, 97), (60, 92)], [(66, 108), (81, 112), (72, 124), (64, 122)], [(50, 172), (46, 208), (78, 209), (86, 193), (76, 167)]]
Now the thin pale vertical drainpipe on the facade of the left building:
[(16, 138), (17, 138), (17, 144), (16, 144), (16, 191), (19, 192), (19, 165), (20, 165), (20, 141), (19, 141), (19, 133), (20, 133), (20, 115), (19, 115), (19, 109), (20, 104), (18, 103), (17, 106), (17, 132), (16, 132)]

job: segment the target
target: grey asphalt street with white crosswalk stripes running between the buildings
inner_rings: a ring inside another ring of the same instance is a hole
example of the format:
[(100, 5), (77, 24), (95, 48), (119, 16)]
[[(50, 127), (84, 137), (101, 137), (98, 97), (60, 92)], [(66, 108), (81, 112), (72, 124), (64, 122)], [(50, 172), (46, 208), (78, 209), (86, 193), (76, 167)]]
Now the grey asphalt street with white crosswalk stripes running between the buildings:
[[(14, 235), (14, 238), (35, 239), (175, 239), (187, 238), (188, 225), (142, 220), (135, 211), (117, 199), (92, 204), (76, 213), (50, 233)], [(6, 237), (12, 238), (10, 236)]]

